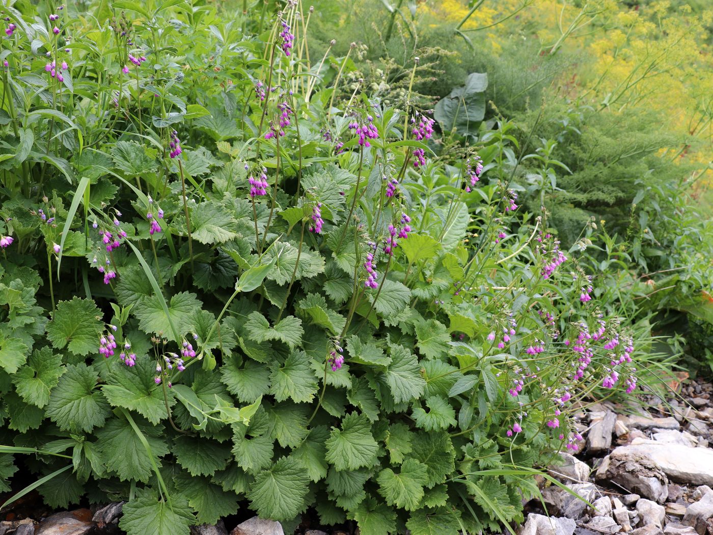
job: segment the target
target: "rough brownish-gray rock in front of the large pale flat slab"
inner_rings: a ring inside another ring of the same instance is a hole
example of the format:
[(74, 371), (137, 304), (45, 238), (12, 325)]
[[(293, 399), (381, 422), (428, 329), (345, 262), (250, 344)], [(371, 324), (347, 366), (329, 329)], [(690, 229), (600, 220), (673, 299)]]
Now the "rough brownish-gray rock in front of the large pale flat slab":
[(663, 503), (668, 496), (668, 478), (645, 454), (620, 446), (604, 458), (597, 479), (612, 481), (628, 491)]

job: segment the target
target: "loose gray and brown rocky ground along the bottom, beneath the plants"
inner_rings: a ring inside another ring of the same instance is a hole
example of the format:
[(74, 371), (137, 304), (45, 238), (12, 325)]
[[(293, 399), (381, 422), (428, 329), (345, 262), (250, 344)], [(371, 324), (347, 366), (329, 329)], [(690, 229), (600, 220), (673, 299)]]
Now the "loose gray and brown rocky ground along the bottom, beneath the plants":
[[(518, 535), (713, 535), (713, 385), (673, 386), (679, 390), (674, 399), (643, 400), (654, 409), (602, 403), (581, 410), (576, 419), (584, 447), (577, 457), (562, 454), (561, 464), (549, 469), (569, 491), (543, 479), (545, 506), (530, 501)], [(0, 535), (120, 534), (122, 505), (62, 511), (41, 521), (8, 519), (0, 521)], [(221, 521), (191, 533), (284, 535), (278, 522), (257, 516), (230, 532)]]

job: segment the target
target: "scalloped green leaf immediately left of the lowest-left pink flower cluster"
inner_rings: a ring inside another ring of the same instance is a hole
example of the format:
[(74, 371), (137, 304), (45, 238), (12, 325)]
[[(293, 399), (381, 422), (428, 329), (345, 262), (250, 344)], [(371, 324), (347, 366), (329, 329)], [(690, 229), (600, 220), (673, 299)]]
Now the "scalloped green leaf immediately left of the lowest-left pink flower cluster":
[(103, 328), (101, 319), (101, 310), (91, 299), (73, 297), (71, 301), (60, 301), (47, 324), (47, 340), (56, 349), (67, 347), (76, 355), (96, 352)]

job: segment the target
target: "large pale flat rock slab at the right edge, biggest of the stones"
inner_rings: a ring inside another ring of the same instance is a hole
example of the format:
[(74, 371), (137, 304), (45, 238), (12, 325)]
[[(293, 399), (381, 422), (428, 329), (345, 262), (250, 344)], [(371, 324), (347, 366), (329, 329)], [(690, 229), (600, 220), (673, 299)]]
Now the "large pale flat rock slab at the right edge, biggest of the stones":
[(629, 446), (615, 448), (611, 456), (624, 452), (651, 459), (672, 481), (713, 485), (713, 449), (634, 439)]

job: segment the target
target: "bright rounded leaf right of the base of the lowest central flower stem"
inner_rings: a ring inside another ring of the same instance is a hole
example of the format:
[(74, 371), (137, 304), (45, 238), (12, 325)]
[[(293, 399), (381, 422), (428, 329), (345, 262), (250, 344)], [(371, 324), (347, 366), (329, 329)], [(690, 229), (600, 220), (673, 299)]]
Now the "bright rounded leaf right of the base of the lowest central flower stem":
[(378, 451), (369, 418), (366, 414), (352, 412), (342, 419), (341, 430), (332, 428), (325, 458), (337, 470), (356, 470), (371, 466)]

